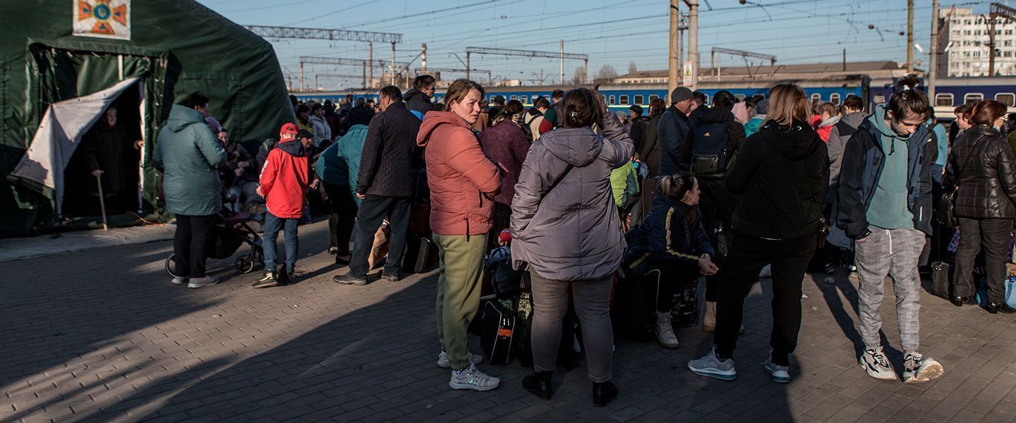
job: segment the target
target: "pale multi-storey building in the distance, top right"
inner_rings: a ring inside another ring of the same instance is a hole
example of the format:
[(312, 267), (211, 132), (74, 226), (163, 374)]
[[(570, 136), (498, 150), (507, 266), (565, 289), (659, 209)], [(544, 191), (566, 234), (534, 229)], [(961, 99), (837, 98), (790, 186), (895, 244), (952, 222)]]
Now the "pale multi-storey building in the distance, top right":
[[(990, 29), (988, 15), (970, 8), (939, 10), (939, 75), (989, 76)], [(1016, 22), (995, 21), (995, 76), (1016, 75)]]

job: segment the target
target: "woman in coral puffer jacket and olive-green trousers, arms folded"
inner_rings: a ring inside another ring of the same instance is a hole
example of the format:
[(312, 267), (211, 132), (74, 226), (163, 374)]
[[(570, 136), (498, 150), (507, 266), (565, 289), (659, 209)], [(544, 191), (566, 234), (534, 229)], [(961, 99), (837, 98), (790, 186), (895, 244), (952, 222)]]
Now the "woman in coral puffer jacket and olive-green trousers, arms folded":
[(501, 188), (497, 166), (484, 155), (469, 129), (480, 117), (484, 87), (459, 79), (445, 93), (445, 111), (428, 112), (417, 143), (426, 147), (431, 189), (431, 228), (441, 259), (437, 323), (438, 366), (451, 368), (453, 390), (490, 391), (500, 380), (477, 369), (480, 354), (466, 349), (466, 328), (480, 307), (487, 231), (494, 195)]

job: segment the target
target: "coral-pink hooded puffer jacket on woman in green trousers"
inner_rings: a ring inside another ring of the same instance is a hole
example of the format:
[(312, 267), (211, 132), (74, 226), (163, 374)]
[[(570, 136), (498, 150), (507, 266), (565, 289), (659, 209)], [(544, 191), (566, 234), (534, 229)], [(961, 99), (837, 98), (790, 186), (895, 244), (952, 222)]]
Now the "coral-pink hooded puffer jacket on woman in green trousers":
[(492, 198), (501, 188), (501, 174), (465, 120), (453, 112), (428, 112), (417, 144), (427, 147), (431, 228), (442, 235), (491, 230)]

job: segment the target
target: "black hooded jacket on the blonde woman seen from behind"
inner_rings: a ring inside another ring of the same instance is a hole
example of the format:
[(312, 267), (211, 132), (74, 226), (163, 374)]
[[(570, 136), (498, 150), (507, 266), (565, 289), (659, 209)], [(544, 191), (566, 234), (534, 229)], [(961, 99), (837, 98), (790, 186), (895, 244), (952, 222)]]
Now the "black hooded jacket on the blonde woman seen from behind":
[(725, 181), (742, 196), (735, 230), (775, 239), (813, 235), (825, 206), (829, 152), (807, 123), (767, 121), (745, 141)]

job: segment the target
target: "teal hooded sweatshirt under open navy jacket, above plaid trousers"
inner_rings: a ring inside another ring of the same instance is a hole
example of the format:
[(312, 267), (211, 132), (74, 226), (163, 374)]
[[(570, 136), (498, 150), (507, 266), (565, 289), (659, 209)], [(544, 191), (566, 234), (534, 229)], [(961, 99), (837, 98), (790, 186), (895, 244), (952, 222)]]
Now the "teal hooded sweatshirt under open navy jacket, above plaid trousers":
[(868, 223), (883, 229), (913, 227), (913, 213), (907, 203), (907, 140), (909, 136), (897, 135), (885, 116), (885, 104), (875, 107), (875, 113), (868, 117), (868, 123), (879, 133), (882, 151), (885, 152), (885, 167), (879, 178), (875, 194), (868, 206)]

